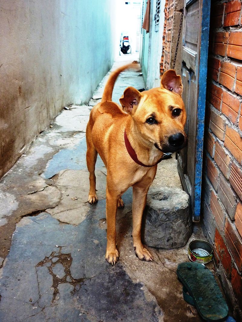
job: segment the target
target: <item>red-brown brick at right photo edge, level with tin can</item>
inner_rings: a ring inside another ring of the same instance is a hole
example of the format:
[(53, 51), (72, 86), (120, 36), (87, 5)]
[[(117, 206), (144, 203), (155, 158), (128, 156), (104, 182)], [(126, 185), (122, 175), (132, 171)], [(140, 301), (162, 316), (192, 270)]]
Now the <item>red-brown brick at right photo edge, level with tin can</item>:
[(225, 238), (226, 244), (232, 254), (236, 265), (241, 272), (242, 270), (242, 241), (240, 240), (239, 236), (237, 235), (235, 229), (229, 223), (228, 219), (226, 218), (225, 222)]

